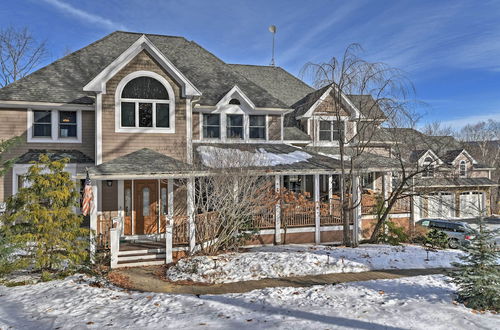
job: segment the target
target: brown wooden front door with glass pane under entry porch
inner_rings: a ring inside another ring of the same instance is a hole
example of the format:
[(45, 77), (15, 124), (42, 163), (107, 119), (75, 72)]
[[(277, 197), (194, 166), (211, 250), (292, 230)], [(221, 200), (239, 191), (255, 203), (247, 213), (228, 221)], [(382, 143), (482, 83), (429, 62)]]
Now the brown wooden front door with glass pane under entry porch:
[(157, 181), (136, 181), (134, 188), (135, 233), (138, 235), (155, 234), (158, 231)]

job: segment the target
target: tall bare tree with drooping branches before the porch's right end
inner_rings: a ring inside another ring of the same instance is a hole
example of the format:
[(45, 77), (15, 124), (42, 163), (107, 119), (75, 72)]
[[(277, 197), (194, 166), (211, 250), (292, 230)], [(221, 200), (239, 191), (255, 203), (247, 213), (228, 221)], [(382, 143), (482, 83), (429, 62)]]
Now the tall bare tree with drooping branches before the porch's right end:
[[(361, 50), (358, 44), (352, 44), (347, 47), (342, 58), (333, 57), (327, 63), (307, 63), (302, 70), (302, 76), (312, 74), (315, 87), (331, 86), (330, 97), (323, 100), (322, 106), (335, 116), (337, 125), (343, 123), (346, 116), (349, 117), (351, 126), (345, 131), (339, 129), (339, 125), (332, 127), (340, 133), (340, 217), (346, 245), (351, 245), (350, 214), (357, 206), (349, 198), (351, 183), (363, 162), (362, 156), (369, 149), (377, 127), (385, 119), (404, 113), (406, 100), (414, 93), (412, 84), (400, 70), (362, 59), (359, 55)], [(353, 111), (353, 108), (360, 113)]]

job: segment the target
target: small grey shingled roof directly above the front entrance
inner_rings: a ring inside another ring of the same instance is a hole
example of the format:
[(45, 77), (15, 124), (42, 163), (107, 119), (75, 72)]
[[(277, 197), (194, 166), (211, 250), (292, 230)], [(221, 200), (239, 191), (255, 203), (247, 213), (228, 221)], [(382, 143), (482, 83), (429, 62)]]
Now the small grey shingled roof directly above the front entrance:
[(148, 148), (134, 151), (89, 169), (89, 174), (98, 176), (120, 175), (166, 175), (189, 173), (192, 165)]

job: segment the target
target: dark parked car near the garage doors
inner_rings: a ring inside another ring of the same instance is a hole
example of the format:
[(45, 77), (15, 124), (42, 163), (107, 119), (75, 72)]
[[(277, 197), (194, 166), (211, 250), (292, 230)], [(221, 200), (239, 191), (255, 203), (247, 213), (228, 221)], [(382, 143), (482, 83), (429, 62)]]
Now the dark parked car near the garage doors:
[(474, 238), (473, 229), (468, 223), (443, 219), (422, 219), (417, 225), (429, 229), (437, 229), (448, 236), (448, 246), (452, 249), (467, 245)]

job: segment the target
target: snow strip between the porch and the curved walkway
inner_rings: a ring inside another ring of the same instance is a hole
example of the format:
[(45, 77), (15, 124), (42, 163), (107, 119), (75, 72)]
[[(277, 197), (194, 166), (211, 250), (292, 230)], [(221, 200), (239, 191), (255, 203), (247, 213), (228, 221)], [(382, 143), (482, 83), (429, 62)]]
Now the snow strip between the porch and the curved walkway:
[(417, 245), (362, 245), (342, 248), (321, 245), (286, 245), (199, 256), (180, 260), (167, 270), (172, 281), (228, 283), (286, 276), (364, 272), (374, 269), (451, 267), (458, 262), (458, 250), (429, 253)]

